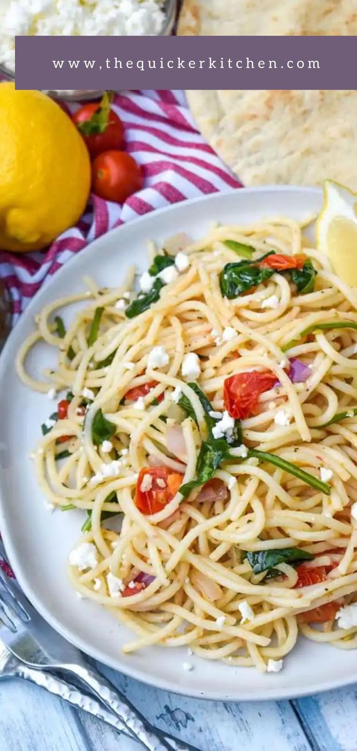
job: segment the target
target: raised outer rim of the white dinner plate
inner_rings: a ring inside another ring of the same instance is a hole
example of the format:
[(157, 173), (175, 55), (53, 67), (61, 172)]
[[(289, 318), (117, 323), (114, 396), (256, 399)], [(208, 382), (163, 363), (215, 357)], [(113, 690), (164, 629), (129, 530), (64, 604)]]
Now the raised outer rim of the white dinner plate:
[[(145, 213), (144, 215), (140, 216), (137, 219), (133, 219), (130, 222), (125, 223), (124, 225), (120, 225), (119, 227), (112, 228), (109, 232), (101, 235), (100, 237), (96, 238), (95, 240), (92, 240), (89, 242), (89, 244), (79, 253), (77, 253), (74, 258), (69, 259), (69, 264), (71, 264), (71, 269), (75, 270), (76, 265), (78, 262), (82, 262), (83, 255), (91, 255), (95, 254), (97, 252), (97, 248), (100, 246), (105, 246), (107, 243), (107, 238), (109, 236), (113, 236), (114, 234), (118, 234), (118, 237), (120, 237), (120, 231), (124, 228), (135, 227), (137, 228), (140, 223), (144, 223), (148, 219), (155, 219), (158, 217), (158, 221), (160, 221), (160, 216), (166, 213), (175, 213), (175, 210), (178, 209), (178, 207), (181, 207), (184, 209), (188, 204), (201, 204), (205, 203), (206, 201), (212, 200), (212, 198), (216, 198), (218, 201), (223, 201), (224, 198), (226, 198), (226, 195), (231, 195), (232, 193), (236, 193), (237, 196), (240, 194), (271, 194), (271, 193), (279, 193), (279, 192), (291, 192), (291, 193), (302, 193), (302, 194), (314, 194), (314, 195), (320, 195), (322, 196), (322, 189), (314, 186), (304, 186), (304, 185), (262, 185), (262, 186), (253, 186), (249, 188), (238, 188), (238, 189), (228, 189), (226, 191), (221, 192), (214, 192), (210, 193), (205, 196), (199, 196), (197, 198), (187, 199), (185, 201), (179, 201), (175, 204), (170, 204), (169, 206), (162, 207), (157, 210), (150, 211), (148, 213)], [(239, 199), (238, 199), (239, 200)], [(5, 369), (7, 364), (7, 352), (10, 354), (10, 348), (13, 347), (13, 342), (15, 339), (18, 339), (20, 336), (21, 339), (21, 328), (24, 325), (22, 321), (26, 323), (26, 319), (28, 317), (31, 317), (32, 309), (37, 307), (37, 304), (40, 302), (41, 297), (43, 297), (43, 294), (48, 291), (48, 288), (52, 285), (53, 279), (61, 279), (62, 274), (68, 273), (68, 262), (63, 264), (61, 268), (55, 271), (55, 273), (51, 276), (51, 278), (45, 282), (43, 285), (41, 285), (40, 289), (34, 294), (34, 297), (32, 297), (31, 301), (28, 303), (28, 306), (26, 306), (25, 311), (23, 314), (20, 315), (20, 318), (17, 320), (17, 323), (14, 325), (13, 329), (10, 332), (10, 335), (7, 337), (7, 340), (5, 342), (5, 346), (1, 351), (0, 354), (0, 379), (5, 375)], [(17, 333), (18, 332), (18, 333)], [(68, 629), (66, 626), (64, 626), (55, 616), (52, 616), (49, 606), (46, 606), (41, 599), (37, 597), (36, 592), (32, 589), (28, 581), (26, 580), (26, 575), (23, 574), (23, 571), (25, 571), (25, 568), (21, 565), (20, 557), (17, 556), (15, 546), (12, 543), (12, 538), (10, 534), (10, 529), (7, 526), (7, 514), (5, 513), (6, 508), (6, 502), (4, 502), (3, 499), (3, 493), (2, 488), (0, 486), (0, 529), (1, 529), (1, 536), (5, 544), (5, 548), (7, 551), (7, 556), (10, 561), (10, 565), (13, 568), (13, 572), (17, 578), (17, 581), (20, 584), (20, 587), (22, 588), (23, 592), (26, 594), (32, 605), (34, 605), (34, 608), (40, 613), (40, 615), (46, 620), (47, 623), (49, 623), (50, 626), (52, 626), (55, 631), (57, 631), (59, 634), (61, 634), (67, 641), (69, 641), (71, 644), (74, 644), (75, 647), (80, 649), (83, 653), (86, 655), (91, 656), (93, 659), (96, 659), (98, 662), (107, 665), (108, 668), (111, 668), (112, 670), (118, 671), (124, 675), (127, 675), (128, 677), (132, 677), (134, 680), (139, 680), (141, 683), (145, 683), (149, 686), (154, 686), (155, 688), (162, 689), (164, 691), (169, 691), (175, 694), (184, 695), (184, 696), (190, 696), (193, 698), (205, 698), (210, 701), (280, 701), (280, 700), (288, 700), (292, 698), (299, 698), (303, 696), (308, 696), (314, 693), (329, 691), (336, 688), (341, 688), (342, 686), (350, 686), (353, 683), (356, 683), (356, 675), (351, 674), (350, 676), (346, 676), (345, 678), (337, 677), (334, 679), (332, 677), (330, 680), (323, 680), (319, 681), (317, 683), (309, 683), (308, 686), (298, 686), (296, 689), (292, 691), (291, 687), (278, 687), (274, 688), (274, 686), (267, 682), (266, 685), (266, 691), (265, 695), (262, 695), (260, 693), (260, 689), (255, 690), (252, 689), (245, 689), (245, 692), (237, 695), (232, 694), (226, 694), (222, 695), (222, 692), (215, 693), (214, 690), (209, 692), (208, 694), (206, 692), (202, 692), (199, 689), (194, 688), (193, 686), (180, 686), (175, 684), (175, 687), (172, 689), (172, 683), (169, 682), (169, 680), (166, 680), (166, 678), (160, 678), (160, 676), (152, 676), (151, 674), (148, 674), (145, 676), (145, 670), (137, 669), (133, 665), (127, 665), (121, 664), (120, 667), (115, 664), (115, 662), (111, 661), (109, 657), (106, 657), (103, 653), (101, 653), (100, 650), (98, 650), (96, 647), (91, 646), (86, 640), (81, 638), (80, 635), (77, 633), (71, 632), (70, 629)], [(9, 525), (10, 526), (10, 525)]]

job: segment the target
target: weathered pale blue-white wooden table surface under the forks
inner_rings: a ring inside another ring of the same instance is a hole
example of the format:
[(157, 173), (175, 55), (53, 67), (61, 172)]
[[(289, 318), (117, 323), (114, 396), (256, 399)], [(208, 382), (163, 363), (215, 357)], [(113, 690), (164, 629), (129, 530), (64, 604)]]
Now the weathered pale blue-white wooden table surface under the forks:
[[(357, 685), (296, 701), (227, 704), (169, 694), (101, 669), (154, 725), (200, 751), (357, 751)], [(1, 751), (140, 747), (43, 689), (20, 680), (0, 683)]]

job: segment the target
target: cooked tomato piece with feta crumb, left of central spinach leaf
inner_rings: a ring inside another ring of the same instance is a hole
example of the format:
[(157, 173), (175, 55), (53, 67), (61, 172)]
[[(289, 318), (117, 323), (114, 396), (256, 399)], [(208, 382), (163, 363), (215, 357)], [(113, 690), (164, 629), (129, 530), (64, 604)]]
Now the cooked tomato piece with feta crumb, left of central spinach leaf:
[[(142, 514), (157, 514), (178, 491), (183, 475), (166, 466), (144, 467), (136, 483), (135, 502)], [(145, 490), (146, 488), (146, 490)]]

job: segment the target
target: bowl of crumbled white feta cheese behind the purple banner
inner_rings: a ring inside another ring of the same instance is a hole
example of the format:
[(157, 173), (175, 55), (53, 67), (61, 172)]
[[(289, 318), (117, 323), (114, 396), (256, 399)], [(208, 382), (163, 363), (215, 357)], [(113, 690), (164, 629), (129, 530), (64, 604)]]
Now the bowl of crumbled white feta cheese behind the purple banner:
[[(16, 36), (169, 36), (176, 6), (177, 0), (0, 0), (0, 74), (15, 79)], [(101, 92), (57, 94), (88, 99)]]

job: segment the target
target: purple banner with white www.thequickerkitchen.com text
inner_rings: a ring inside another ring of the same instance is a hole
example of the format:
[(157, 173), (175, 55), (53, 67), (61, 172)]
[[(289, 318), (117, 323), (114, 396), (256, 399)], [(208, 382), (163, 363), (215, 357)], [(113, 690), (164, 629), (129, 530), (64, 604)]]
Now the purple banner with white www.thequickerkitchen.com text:
[(354, 89), (356, 37), (17, 37), (19, 89)]

